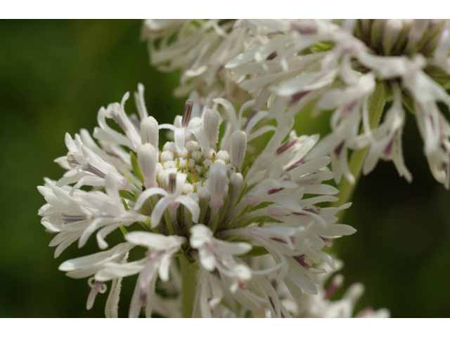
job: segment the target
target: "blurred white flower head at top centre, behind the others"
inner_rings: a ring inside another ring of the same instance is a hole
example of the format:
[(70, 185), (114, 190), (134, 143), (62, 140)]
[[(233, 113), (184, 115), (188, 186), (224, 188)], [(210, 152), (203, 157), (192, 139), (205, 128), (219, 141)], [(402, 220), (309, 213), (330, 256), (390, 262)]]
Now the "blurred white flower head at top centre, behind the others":
[[(236, 97), (236, 76), (224, 69), (226, 62), (244, 49), (244, 29), (232, 29), (233, 20), (146, 20), (143, 38), (148, 40), (153, 65), (164, 72), (181, 68), (176, 96), (193, 90), (203, 98), (245, 101)], [(186, 34), (187, 33), (187, 34)]]

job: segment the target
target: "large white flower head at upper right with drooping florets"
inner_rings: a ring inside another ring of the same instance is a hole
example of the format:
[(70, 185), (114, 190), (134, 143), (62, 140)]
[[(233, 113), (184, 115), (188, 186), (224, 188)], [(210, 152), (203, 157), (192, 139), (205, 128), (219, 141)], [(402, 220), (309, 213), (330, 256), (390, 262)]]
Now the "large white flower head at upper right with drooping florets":
[[(249, 29), (248, 41), (252, 43), (225, 67), (248, 77), (238, 85), (249, 93), (258, 93), (257, 97), (263, 100), (261, 104), (266, 101), (271, 109), (269, 116), (279, 121), (283, 118), (280, 110), (288, 109), (288, 114), (296, 114), (314, 98), (319, 98), (314, 107), (316, 112), (334, 110), (330, 120), (332, 133), (321, 140), (311, 156), (330, 154), (337, 182), (344, 175), (354, 183), (347, 164), (347, 150), (371, 146), (364, 173), (371, 171), (369, 168), (375, 163), (373, 152), (380, 152), (381, 143), (373, 137), (385, 131), (378, 131), (381, 126), (372, 130), (368, 120), (368, 98), (376, 95), (376, 75), (378, 82), (385, 83), (387, 91), (395, 90), (397, 85), (403, 89), (401, 95), (406, 100), (412, 99), (433, 176), (446, 187), (450, 185), (446, 119), (436, 105), (441, 101), (449, 106), (449, 95), (442, 88), (442, 76), (449, 74), (450, 64), (448, 22), (242, 20), (235, 28)], [(387, 126), (388, 121), (395, 126)], [(401, 125), (399, 119), (385, 119), (385, 122), (384, 129), (395, 128), (399, 132), (394, 153), (383, 159), (392, 159), (400, 176), (411, 181), (401, 153), (404, 121)], [(368, 141), (359, 141), (361, 123)]]

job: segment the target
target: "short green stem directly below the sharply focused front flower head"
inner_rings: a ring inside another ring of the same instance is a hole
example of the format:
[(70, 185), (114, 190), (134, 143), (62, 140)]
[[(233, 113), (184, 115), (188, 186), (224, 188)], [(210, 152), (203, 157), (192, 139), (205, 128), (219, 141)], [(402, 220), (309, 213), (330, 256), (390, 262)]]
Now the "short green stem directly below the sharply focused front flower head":
[(191, 318), (195, 300), (195, 284), (197, 270), (189, 266), (186, 256), (179, 256), (181, 266), (181, 314), (183, 318)]

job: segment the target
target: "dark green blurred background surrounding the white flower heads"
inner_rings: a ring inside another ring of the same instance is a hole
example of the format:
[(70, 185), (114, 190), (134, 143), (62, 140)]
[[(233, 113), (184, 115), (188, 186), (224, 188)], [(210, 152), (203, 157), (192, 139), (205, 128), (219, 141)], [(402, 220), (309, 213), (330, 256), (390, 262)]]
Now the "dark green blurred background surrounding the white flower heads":
[[(53, 259), (54, 248), (48, 246), (53, 234), (44, 232), (37, 216), (45, 201), (36, 186), (44, 177), (63, 175), (53, 159), (67, 153), (65, 133), (92, 132), (98, 109), (120, 102), (139, 82), (146, 87), (148, 111), (160, 123), (182, 112), (184, 100), (172, 98), (179, 74), (149, 66), (141, 23), (0, 21), (0, 317), (104, 316), (106, 295), (87, 311), (86, 279), (58, 271), (63, 261), (98, 251), (95, 240), (81, 251), (73, 244)], [(136, 112), (132, 98), (126, 110)], [(297, 129), (324, 135), (328, 117), (311, 122), (304, 112)], [(404, 154), (413, 183), (385, 162), (361, 178), (343, 219), (358, 232), (336, 240), (335, 251), (345, 261), (345, 287), (366, 285), (357, 309), (385, 307), (392, 317), (449, 317), (450, 192), (432, 178), (411, 115)], [(124, 279), (122, 317), (135, 281)]]

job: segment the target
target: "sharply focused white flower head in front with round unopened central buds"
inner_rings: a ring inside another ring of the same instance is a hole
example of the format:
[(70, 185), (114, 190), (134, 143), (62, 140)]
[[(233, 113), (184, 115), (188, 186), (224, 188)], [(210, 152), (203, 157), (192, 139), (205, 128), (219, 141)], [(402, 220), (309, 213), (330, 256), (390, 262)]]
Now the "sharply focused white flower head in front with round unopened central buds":
[[(41, 223), (57, 233), (50, 243), (57, 246), (56, 257), (74, 242), (84, 246), (96, 232), (103, 251), (60, 265), (69, 277), (89, 277), (87, 308), (111, 282), (105, 315), (117, 317), (123, 277), (139, 274), (129, 317), (139, 317), (143, 307), (146, 317), (152, 312), (181, 316), (179, 303), (166, 303), (156, 291), (158, 278), (181, 291), (180, 270), (173, 263), (179, 258), (181, 277), (190, 273), (197, 284), (189, 315), (260, 316), (268, 310), (272, 317), (290, 317), (293, 312), (283, 306), (267, 275), (295, 300), (304, 292), (316, 294), (326, 272), (317, 265), (335, 267), (324, 249), (336, 237), (355, 232), (336, 224), (335, 214), (349, 204), (317, 205), (336, 201), (338, 192), (323, 184), (333, 179), (330, 157), (308, 155), (319, 136), (298, 137), (289, 113), (280, 112), (276, 126), (259, 123), (268, 112), (252, 111), (245, 118), (255, 100), (237, 115), (228, 100), (215, 99), (222, 116), (217, 109), (193, 116), (193, 101), (186, 100), (174, 124), (158, 124), (148, 116), (143, 86), (135, 95), (139, 116), (125, 113), (127, 98), (128, 93), (98, 112), (94, 138), (99, 145), (86, 130), (74, 138), (66, 134), (68, 154), (56, 162), (67, 172), (38, 187), (48, 203), (39, 209)], [(173, 131), (174, 142), (160, 147), (160, 129)], [(251, 140), (268, 132), (264, 150), (247, 151)], [(86, 192), (82, 186), (93, 189)], [(136, 223), (141, 230), (135, 230)], [(125, 241), (107, 249), (106, 237), (119, 228)], [(129, 261), (136, 246), (147, 252)], [(255, 267), (255, 256), (266, 256), (272, 265)]]

